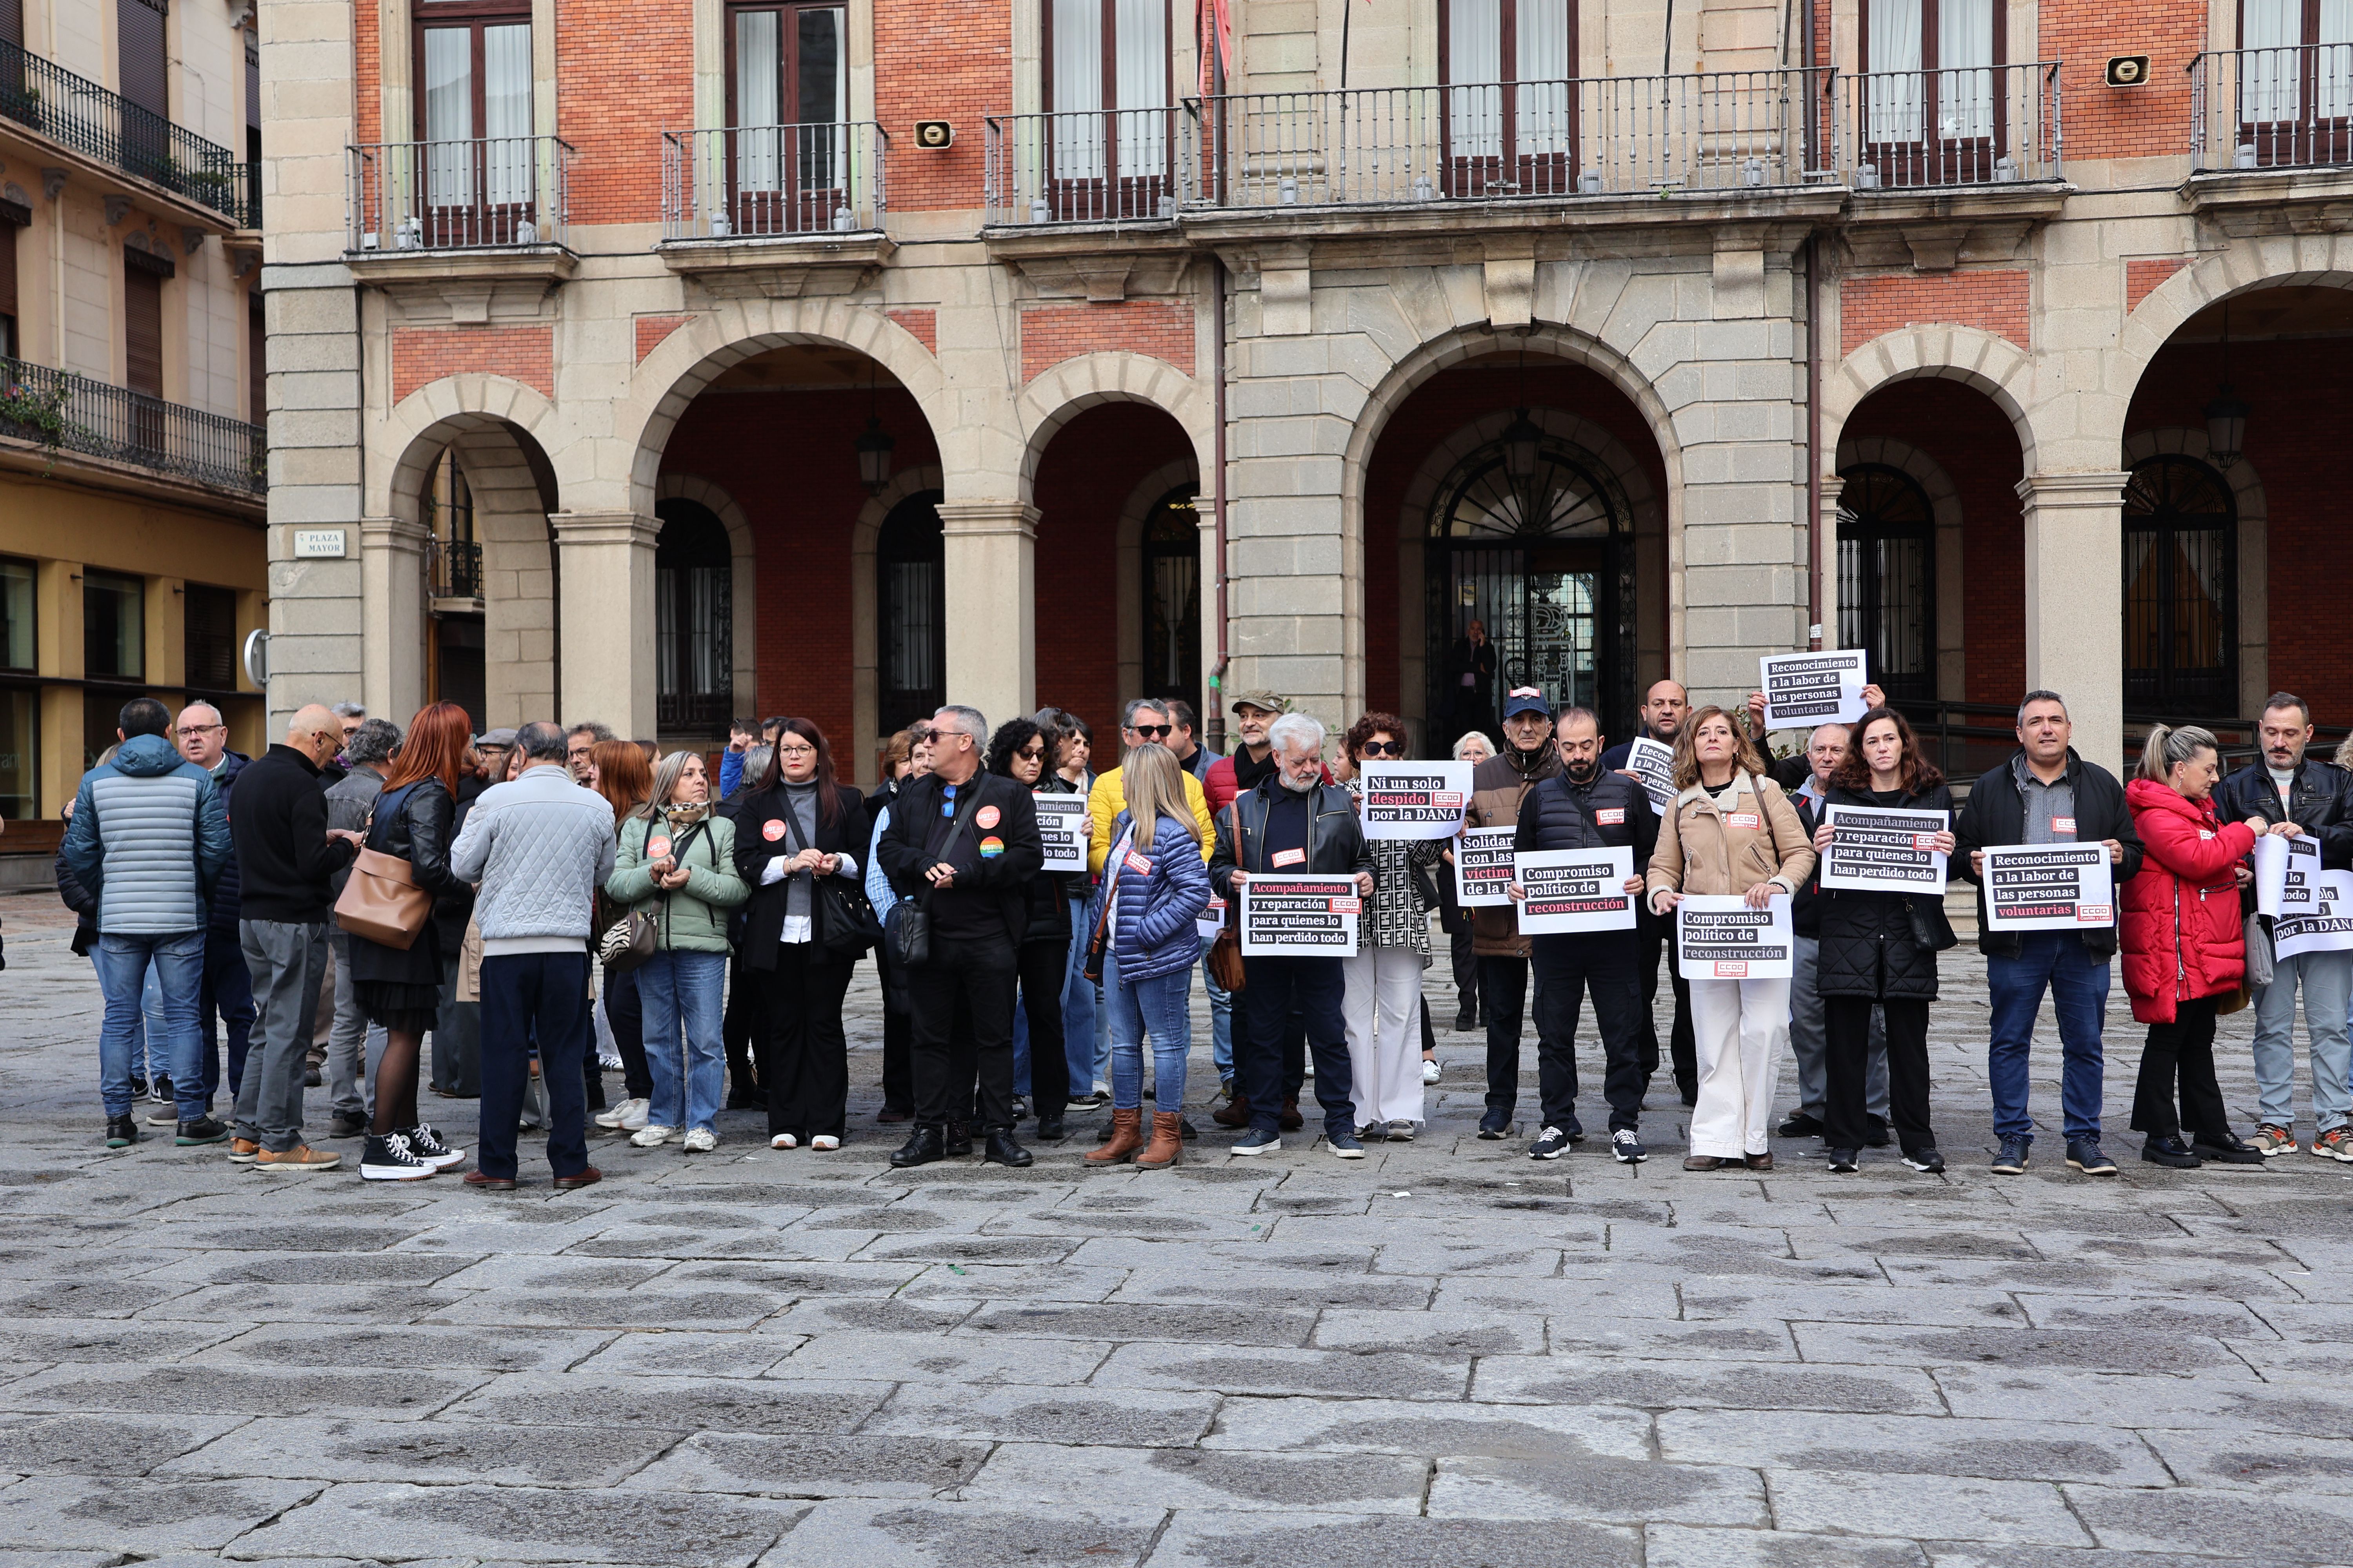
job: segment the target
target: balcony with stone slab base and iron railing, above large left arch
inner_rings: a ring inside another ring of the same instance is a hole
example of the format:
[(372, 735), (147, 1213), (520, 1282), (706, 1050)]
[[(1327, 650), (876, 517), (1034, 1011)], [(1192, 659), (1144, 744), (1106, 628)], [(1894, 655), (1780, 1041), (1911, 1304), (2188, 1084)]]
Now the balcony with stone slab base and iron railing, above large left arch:
[(892, 254), (871, 120), (661, 134), (661, 256), (713, 294), (847, 294)]

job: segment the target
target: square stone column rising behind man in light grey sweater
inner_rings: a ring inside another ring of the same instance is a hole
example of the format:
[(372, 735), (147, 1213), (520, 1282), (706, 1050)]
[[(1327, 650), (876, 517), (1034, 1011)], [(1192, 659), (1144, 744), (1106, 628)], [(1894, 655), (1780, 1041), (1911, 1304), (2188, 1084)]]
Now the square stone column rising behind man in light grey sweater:
[(654, 536), (642, 512), (551, 512), (558, 708), (624, 741), (654, 738)]

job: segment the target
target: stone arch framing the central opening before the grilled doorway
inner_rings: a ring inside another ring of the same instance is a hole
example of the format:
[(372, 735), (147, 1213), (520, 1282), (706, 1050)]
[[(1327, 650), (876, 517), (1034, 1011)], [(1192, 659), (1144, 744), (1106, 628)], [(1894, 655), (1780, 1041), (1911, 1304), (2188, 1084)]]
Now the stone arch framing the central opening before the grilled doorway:
[[(1341, 454), (1341, 625), (1346, 642), (1341, 649), (1341, 705), (1344, 712), (1365, 708), (1365, 473), (1391, 416), (1438, 371), (1471, 360), (1532, 350), (1555, 360), (1569, 360), (1602, 376), (1640, 414), (1659, 447), (1666, 470), (1664, 543), (1666, 543), (1666, 665), (1685, 668), (1682, 639), (1682, 442), (1675, 435), (1675, 416), (1668, 402), (1652, 386), (1633, 360), (1600, 336), (1558, 322), (1537, 322), (1520, 331), (1489, 324), (1459, 327), (1424, 341), (1419, 348), (1395, 360), (1381, 381), (1365, 390), (1355, 409), (1339, 409), (1351, 418), (1348, 444)], [(1435, 487), (1435, 480), (1431, 480)], [(1424, 501), (1426, 505), (1426, 501)], [(1400, 637), (1405, 628), (1400, 628)]]

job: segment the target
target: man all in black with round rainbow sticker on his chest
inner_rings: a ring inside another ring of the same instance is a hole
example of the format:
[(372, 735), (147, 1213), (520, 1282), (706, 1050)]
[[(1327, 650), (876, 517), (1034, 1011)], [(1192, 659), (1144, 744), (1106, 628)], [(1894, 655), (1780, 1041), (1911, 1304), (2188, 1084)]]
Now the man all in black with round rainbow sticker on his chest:
[(1014, 983), (1028, 929), (1028, 879), (1045, 865), (1038, 806), (1012, 778), (981, 771), (988, 719), (974, 708), (932, 715), (932, 771), (892, 804), (875, 846), (901, 898), (922, 898), (932, 959), (908, 976), (915, 1053), (915, 1131), (889, 1157), (899, 1168), (948, 1152), (951, 1103), (969, 1079), (955, 1070), (955, 1006), (969, 1006), (974, 1077), (988, 1152), (981, 1164), (1026, 1166), (1014, 1143)]

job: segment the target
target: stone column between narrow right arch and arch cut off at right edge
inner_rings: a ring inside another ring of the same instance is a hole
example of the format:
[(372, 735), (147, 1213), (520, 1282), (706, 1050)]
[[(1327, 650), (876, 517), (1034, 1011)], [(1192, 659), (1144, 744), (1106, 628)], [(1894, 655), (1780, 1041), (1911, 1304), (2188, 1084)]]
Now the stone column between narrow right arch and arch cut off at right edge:
[(2026, 503), (2026, 686), (2057, 691), (2075, 750), (2125, 764), (2125, 473), (2019, 480)]

